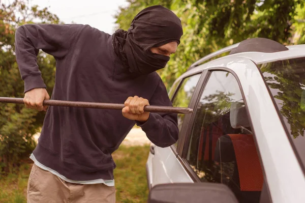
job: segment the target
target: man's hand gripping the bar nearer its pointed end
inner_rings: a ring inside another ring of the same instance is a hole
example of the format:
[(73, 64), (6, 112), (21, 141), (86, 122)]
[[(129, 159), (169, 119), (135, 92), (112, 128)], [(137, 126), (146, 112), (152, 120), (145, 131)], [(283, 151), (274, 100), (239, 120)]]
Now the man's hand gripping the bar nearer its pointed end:
[(149, 105), (147, 99), (134, 96), (129, 97), (124, 103), (125, 107), (122, 109), (124, 117), (130, 120), (139, 122), (146, 122), (149, 117), (149, 112), (144, 112), (144, 106)]

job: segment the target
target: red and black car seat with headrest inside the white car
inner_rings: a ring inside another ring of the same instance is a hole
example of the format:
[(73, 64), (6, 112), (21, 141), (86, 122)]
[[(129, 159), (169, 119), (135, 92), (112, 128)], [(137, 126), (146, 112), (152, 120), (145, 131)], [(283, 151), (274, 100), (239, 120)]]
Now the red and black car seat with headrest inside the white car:
[[(234, 129), (250, 127), (245, 105), (232, 103), (230, 123)], [(220, 164), (217, 182), (228, 185), (239, 202), (259, 202), (263, 173), (252, 134), (226, 134), (219, 137), (215, 161)]]

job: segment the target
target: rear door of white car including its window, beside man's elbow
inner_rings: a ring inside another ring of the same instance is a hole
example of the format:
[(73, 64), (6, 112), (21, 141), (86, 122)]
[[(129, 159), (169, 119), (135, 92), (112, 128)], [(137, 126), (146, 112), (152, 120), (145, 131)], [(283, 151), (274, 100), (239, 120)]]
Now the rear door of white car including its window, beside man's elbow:
[[(200, 78), (202, 78), (201, 72), (175, 81), (169, 92), (173, 106), (192, 107), (190, 104), (196, 87), (200, 86)], [(182, 129), (187, 127), (185, 121), (190, 119), (190, 115), (178, 114), (177, 117), (178, 141), (167, 148), (160, 148), (154, 144), (150, 146), (146, 163), (149, 188), (162, 183), (192, 182), (187, 171), (177, 159), (177, 147), (183, 132)]]

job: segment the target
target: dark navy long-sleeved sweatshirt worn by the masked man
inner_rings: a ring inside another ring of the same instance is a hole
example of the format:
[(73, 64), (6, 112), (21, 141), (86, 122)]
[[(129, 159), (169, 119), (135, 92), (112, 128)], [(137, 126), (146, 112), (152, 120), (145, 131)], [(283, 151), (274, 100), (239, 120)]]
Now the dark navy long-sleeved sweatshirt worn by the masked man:
[[(124, 103), (130, 96), (171, 106), (156, 72), (131, 73), (115, 54), (112, 36), (81, 24), (26, 24), (16, 31), (16, 59), (25, 92), (45, 88), (37, 66), (39, 49), (56, 59), (51, 99)], [(50, 106), (33, 154), (43, 165), (75, 181), (113, 179), (111, 154), (135, 125), (120, 110)], [(178, 139), (177, 115), (150, 113), (138, 123), (160, 147)]]

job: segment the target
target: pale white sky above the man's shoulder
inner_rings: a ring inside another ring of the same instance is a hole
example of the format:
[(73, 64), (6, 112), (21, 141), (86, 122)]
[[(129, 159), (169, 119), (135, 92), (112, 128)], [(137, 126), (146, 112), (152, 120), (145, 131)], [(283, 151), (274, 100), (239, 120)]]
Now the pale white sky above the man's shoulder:
[[(0, 0), (0, 2), (2, 2)], [(4, 0), (4, 3), (13, 0)], [(115, 31), (114, 15), (119, 6), (127, 6), (126, 0), (28, 0), (29, 6), (47, 7), (65, 23), (88, 24), (100, 31), (112, 34)]]

